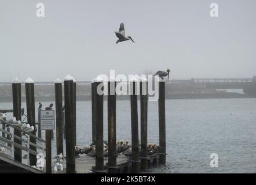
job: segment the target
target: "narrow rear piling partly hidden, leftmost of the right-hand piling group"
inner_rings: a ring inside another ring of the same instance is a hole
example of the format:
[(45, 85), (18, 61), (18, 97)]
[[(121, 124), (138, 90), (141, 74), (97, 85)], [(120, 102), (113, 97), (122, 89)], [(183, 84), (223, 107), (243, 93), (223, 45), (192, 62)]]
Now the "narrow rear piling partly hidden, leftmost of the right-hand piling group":
[(96, 106), (95, 106), (95, 97), (96, 97), (96, 92), (97, 92), (97, 87), (94, 82), (91, 84), (92, 88), (92, 143), (95, 143), (95, 117), (96, 117)]

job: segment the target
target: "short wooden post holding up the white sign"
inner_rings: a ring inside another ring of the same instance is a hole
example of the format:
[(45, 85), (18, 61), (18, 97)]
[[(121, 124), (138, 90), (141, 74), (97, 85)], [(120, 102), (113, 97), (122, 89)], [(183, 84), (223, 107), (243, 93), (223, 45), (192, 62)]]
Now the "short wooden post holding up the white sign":
[(46, 173), (52, 173), (52, 138), (51, 130), (45, 131), (46, 140)]

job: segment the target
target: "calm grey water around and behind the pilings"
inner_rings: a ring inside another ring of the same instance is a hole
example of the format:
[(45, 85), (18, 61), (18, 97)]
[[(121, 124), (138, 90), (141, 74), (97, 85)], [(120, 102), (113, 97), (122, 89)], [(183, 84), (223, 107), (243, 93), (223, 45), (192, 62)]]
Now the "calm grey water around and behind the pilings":
[[(43, 102), (43, 108), (49, 103)], [(0, 103), (0, 108), (12, 108), (12, 103)], [(131, 140), (130, 101), (118, 101), (116, 109), (117, 139)], [(90, 101), (77, 102), (77, 144), (81, 147), (92, 142), (90, 110)], [(104, 110), (107, 140), (107, 102)], [(158, 102), (149, 102), (148, 141), (158, 143), (158, 138)], [(167, 166), (150, 172), (255, 173), (256, 98), (166, 100), (166, 141)], [(210, 167), (211, 153), (218, 154), (218, 168)]]

